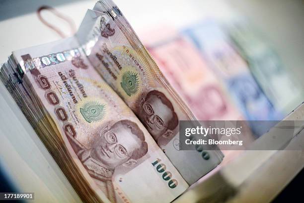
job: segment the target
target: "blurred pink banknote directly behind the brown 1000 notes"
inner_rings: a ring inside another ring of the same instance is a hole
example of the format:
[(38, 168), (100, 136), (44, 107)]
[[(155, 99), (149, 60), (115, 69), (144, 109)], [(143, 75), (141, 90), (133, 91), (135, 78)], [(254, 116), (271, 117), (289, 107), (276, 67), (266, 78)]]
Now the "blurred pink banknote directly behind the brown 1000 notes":
[(199, 120), (242, 120), (198, 50), (174, 29), (140, 35), (169, 83)]

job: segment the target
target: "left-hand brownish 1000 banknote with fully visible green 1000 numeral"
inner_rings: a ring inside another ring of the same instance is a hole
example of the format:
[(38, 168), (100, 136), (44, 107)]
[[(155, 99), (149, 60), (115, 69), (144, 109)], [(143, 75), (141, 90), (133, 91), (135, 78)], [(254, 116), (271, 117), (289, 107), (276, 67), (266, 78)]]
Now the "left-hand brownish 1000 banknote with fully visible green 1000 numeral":
[[(24, 73), (19, 85), (40, 102), (31, 107), (44, 111), (36, 121), (53, 123), (58, 134), (48, 139), (61, 143), (66, 152), (47, 147), (68, 179), (84, 179), (83, 185), (72, 181), (76, 191), (85, 196), (79, 190), (89, 187), (97, 201), (112, 203), (174, 200), (188, 184), (81, 49), (68, 49), (70, 44), (65, 43), (23, 49), (13, 56)], [(62, 153), (69, 155), (61, 160)], [(67, 165), (76, 167), (76, 174)]]

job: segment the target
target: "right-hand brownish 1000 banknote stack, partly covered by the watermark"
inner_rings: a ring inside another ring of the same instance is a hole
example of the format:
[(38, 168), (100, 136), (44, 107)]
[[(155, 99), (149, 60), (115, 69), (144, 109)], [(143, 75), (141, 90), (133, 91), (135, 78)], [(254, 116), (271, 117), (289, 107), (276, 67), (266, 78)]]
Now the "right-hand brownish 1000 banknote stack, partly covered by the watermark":
[(188, 184), (222, 161), (217, 150), (180, 150), (179, 120), (196, 118), (112, 1), (98, 1), (76, 36), (91, 64), (135, 112)]

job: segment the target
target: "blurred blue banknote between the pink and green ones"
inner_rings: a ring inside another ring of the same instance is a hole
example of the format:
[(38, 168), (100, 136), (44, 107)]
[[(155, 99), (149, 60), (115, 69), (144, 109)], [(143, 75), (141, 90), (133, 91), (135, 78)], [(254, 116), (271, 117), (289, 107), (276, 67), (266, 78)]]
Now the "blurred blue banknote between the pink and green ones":
[[(283, 119), (283, 114), (266, 97), (251, 75), (246, 61), (216, 21), (193, 25), (183, 30), (182, 34), (199, 49), (247, 120)], [(251, 128), (255, 135), (260, 136), (268, 127), (258, 125)]]

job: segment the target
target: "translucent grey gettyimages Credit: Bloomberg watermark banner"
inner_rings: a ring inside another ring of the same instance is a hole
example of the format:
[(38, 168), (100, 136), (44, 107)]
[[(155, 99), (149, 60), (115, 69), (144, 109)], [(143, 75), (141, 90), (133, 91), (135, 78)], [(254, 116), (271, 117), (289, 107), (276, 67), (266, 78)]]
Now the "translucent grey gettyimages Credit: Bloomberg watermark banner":
[(303, 150), (289, 146), (303, 128), (303, 120), (180, 120), (179, 150)]

